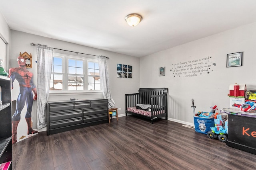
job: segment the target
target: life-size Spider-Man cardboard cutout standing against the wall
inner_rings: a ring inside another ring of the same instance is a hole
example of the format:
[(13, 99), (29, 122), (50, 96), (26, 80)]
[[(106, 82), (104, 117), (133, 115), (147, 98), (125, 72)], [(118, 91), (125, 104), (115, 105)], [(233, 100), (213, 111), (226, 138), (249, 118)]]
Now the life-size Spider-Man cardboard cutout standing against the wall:
[[(12, 115), (12, 144), (24, 139), (36, 135), (38, 132), (32, 129), (31, 125), (31, 112), (33, 106), (33, 100), (37, 99), (36, 85), (33, 81), (33, 73), (26, 69), (26, 61), (23, 57), (19, 56), (19, 67), (9, 69), (9, 77), (12, 78), (12, 89), (18, 88), (14, 86), (14, 81), (17, 80), (20, 86), (20, 92), (18, 94), (16, 110)], [(34, 93), (34, 96), (33, 96)], [(26, 109), (24, 106), (26, 104)], [(22, 132), (17, 134), (18, 125), (21, 117), (25, 117), (27, 128), (20, 125)]]

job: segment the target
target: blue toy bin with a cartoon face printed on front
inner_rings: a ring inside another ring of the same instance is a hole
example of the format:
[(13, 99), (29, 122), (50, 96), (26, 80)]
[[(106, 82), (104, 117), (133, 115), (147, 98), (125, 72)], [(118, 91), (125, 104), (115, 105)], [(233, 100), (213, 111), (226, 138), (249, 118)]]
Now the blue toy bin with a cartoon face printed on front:
[(196, 132), (207, 134), (214, 127), (214, 117), (194, 116), (194, 124)]

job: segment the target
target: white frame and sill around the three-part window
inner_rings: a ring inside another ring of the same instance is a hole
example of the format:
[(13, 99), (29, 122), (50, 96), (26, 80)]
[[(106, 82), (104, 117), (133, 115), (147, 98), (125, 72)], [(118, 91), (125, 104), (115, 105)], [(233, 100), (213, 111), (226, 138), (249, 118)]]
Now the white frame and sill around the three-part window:
[[(66, 55), (60, 53), (53, 53), (53, 57), (62, 58), (62, 74), (63, 74), (63, 90), (50, 90), (50, 94), (84, 94), (84, 93), (102, 93), (101, 87), (100, 90), (88, 90), (88, 61), (98, 63), (98, 59), (90, 59), (86, 57), (78, 57), (73, 55)], [(84, 61), (84, 90), (68, 90), (68, 59), (73, 60), (82, 60)], [(60, 74), (60, 73), (56, 73)]]

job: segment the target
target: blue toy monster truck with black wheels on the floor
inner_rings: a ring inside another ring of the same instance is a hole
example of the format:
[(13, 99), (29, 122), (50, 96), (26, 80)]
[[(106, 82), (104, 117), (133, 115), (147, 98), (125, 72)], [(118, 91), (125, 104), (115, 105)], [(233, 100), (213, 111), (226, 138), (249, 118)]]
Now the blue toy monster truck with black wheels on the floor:
[[(219, 128), (219, 130), (218, 130)], [(223, 129), (221, 126), (219, 127), (211, 127), (212, 131), (208, 131), (207, 136), (210, 139), (218, 138), (221, 142), (225, 142), (228, 140), (227, 130)]]

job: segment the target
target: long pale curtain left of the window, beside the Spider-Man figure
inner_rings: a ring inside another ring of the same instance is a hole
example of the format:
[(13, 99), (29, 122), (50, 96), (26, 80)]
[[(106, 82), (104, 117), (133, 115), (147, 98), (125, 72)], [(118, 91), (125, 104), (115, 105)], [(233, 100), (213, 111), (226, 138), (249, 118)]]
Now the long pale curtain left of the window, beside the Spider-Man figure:
[(37, 44), (37, 128), (46, 126), (46, 102), (50, 92), (53, 48)]

